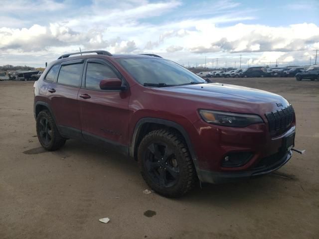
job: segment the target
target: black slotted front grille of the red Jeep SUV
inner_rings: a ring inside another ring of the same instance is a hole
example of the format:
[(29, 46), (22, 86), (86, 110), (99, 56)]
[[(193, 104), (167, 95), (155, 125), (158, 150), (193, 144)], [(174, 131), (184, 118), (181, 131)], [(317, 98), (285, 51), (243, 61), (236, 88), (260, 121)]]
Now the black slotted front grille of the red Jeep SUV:
[(265, 114), (268, 120), (269, 131), (272, 134), (281, 134), (291, 125), (294, 120), (295, 111), (292, 105), (285, 109)]

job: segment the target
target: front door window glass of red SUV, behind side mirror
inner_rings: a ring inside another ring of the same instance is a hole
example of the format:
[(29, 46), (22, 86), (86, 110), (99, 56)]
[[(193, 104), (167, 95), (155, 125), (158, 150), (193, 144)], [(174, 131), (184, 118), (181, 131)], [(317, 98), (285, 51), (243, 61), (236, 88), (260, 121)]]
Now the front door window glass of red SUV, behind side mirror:
[(111, 67), (95, 62), (88, 63), (85, 77), (86, 88), (100, 90), (100, 81), (108, 78), (118, 78)]

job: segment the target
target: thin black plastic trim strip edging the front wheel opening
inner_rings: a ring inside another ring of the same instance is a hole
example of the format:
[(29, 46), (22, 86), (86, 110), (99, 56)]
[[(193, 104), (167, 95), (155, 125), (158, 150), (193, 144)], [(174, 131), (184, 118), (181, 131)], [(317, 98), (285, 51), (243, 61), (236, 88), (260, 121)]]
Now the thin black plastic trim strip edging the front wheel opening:
[(174, 121), (166, 120), (166, 119), (143, 118), (143, 119), (140, 119), (137, 122), (137, 124), (135, 125), (134, 133), (133, 133), (133, 136), (132, 136), (132, 142), (131, 142), (131, 146), (130, 146), (130, 156), (131, 157), (134, 157), (137, 139), (139, 138), (139, 134), (141, 132), (142, 126), (145, 123), (163, 124), (165, 126), (172, 127), (172, 128), (175, 128), (176, 130), (178, 130), (183, 135), (183, 137), (184, 137), (184, 139), (186, 141), (188, 150), (190, 152), (190, 155), (191, 155), (191, 157), (193, 159), (193, 163), (194, 163), (196, 171), (197, 171), (197, 169), (198, 169), (197, 156), (196, 156), (195, 150), (194, 150), (194, 148), (192, 146), (192, 143), (190, 141), (190, 138), (189, 138), (186, 130), (180, 124), (178, 124), (178, 123), (176, 123)]

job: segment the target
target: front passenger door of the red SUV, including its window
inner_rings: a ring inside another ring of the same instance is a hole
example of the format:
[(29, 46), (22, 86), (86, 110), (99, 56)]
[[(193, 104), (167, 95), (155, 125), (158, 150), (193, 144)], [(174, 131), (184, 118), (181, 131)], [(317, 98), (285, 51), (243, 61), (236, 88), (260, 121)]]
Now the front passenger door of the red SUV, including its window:
[(101, 90), (100, 81), (119, 78), (116, 68), (104, 59), (88, 59), (78, 101), (82, 135), (88, 141), (128, 145), (129, 90)]

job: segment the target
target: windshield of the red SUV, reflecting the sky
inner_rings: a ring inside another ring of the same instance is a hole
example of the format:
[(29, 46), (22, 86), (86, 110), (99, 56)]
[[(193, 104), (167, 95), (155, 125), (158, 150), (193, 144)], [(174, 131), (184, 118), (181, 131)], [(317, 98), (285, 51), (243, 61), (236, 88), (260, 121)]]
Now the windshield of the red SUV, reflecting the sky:
[(120, 58), (117, 61), (142, 85), (206, 83), (184, 67), (161, 58)]

